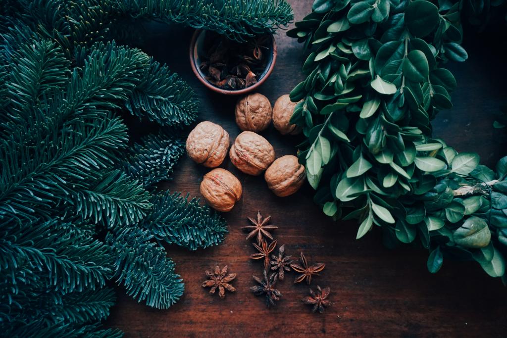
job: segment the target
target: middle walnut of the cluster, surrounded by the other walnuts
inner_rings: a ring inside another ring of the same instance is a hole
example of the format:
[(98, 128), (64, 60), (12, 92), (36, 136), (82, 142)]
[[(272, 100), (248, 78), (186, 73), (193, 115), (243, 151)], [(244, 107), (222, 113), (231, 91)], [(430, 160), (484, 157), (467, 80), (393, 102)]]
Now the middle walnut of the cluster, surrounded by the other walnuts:
[(267, 139), (251, 131), (236, 137), (229, 152), (232, 164), (245, 174), (260, 175), (275, 160), (275, 149)]

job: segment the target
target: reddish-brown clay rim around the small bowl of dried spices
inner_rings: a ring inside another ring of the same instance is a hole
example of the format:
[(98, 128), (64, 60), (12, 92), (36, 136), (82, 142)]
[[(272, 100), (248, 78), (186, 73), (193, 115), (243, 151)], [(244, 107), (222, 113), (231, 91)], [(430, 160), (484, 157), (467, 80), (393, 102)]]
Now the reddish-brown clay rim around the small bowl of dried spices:
[(243, 95), (243, 94), (246, 94), (246, 93), (256, 90), (259, 86), (261, 86), (269, 78), (269, 76), (273, 72), (273, 68), (276, 63), (277, 50), (276, 50), (275, 37), (271, 33), (271, 41), (273, 42), (273, 45), (271, 48), (272, 57), (270, 58), (270, 62), (266, 66), (267, 70), (264, 71), (263, 75), (261, 76), (261, 78), (259, 79), (259, 81), (256, 84), (253, 84), (250, 87), (243, 88), (240, 90), (226, 90), (226, 89), (222, 89), (222, 88), (212, 85), (204, 78), (205, 77), (204, 74), (201, 72), (198, 65), (196, 64), (196, 58), (195, 58), (196, 53), (194, 53), (195, 49), (196, 49), (197, 39), (199, 38), (200, 34), (202, 34), (204, 32), (206, 32), (206, 30), (204, 30), (204, 29), (196, 29), (195, 30), (194, 34), (192, 35), (192, 40), (190, 42), (189, 56), (190, 56), (190, 65), (192, 67), (192, 70), (194, 71), (195, 76), (208, 89), (211, 89), (212, 91), (214, 91), (216, 93), (225, 94), (225, 95)]

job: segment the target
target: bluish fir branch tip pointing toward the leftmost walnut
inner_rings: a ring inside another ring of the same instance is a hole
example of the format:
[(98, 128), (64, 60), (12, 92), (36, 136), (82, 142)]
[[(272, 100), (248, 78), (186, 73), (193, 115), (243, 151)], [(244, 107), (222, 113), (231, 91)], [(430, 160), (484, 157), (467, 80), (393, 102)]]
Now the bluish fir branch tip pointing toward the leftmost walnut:
[(125, 172), (149, 187), (168, 179), (174, 165), (185, 153), (182, 139), (164, 131), (158, 135), (150, 134), (141, 143), (135, 143), (133, 151), (123, 163)]

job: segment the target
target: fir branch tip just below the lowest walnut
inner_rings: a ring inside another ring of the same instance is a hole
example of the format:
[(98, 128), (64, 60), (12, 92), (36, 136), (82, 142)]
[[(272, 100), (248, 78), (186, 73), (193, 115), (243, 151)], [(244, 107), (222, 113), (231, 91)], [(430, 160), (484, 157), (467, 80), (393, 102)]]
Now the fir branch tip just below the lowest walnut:
[(189, 195), (158, 193), (152, 203), (153, 209), (141, 226), (157, 240), (195, 250), (221, 243), (228, 232), (220, 215), (199, 205), (199, 199), (189, 201)]

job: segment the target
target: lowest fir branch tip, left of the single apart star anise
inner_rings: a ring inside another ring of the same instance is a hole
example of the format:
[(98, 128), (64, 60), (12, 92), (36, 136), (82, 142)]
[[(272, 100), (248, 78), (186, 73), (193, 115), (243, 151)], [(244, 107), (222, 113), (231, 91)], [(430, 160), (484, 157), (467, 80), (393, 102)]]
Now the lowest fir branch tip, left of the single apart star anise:
[(116, 236), (108, 234), (107, 242), (116, 254), (115, 278), (127, 294), (150, 307), (167, 309), (183, 294), (184, 284), (174, 273), (174, 262), (150, 242), (152, 238), (146, 230), (129, 228)]

